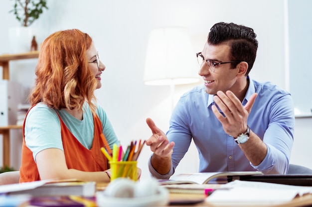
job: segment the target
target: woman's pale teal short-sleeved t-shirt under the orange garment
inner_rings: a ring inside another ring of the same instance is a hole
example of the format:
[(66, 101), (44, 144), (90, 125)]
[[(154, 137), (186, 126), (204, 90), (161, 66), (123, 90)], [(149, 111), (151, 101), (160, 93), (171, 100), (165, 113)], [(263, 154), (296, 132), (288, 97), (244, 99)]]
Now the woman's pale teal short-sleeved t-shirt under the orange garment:
[[(38, 103), (29, 112), (25, 120), (25, 142), (32, 151), (35, 160), (36, 154), (47, 148), (63, 149), (61, 138), (60, 115), (66, 127), (86, 148), (92, 147), (94, 136), (94, 121), (91, 109), (87, 103), (83, 106), (83, 120), (78, 120), (65, 110), (54, 110), (44, 103)], [(97, 105), (96, 114), (100, 118), (103, 127), (103, 134), (113, 148), (114, 143), (119, 143), (114, 129), (108, 120), (105, 111)]]

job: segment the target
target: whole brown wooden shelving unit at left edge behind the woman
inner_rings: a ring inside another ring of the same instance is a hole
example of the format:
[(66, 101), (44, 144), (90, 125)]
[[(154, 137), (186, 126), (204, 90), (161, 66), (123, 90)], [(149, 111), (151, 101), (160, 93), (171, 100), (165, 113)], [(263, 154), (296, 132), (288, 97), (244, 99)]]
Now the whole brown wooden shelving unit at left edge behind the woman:
[[(2, 79), (9, 80), (9, 62), (24, 59), (35, 59), (39, 57), (39, 51), (19, 54), (7, 54), (0, 56), (0, 67), (2, 67)], [(10, 130), (22, 129), (22, 126), (9, 125), (0, 127), (2, 135), (2, 165), (10, 166)]]

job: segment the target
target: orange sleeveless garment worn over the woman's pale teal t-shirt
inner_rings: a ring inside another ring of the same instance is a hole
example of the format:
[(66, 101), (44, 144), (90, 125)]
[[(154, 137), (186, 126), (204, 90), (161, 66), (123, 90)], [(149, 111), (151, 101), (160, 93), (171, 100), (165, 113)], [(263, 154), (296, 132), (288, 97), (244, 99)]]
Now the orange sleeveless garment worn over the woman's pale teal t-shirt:
[[(58, 115), (58, 114), (57, 114)], [(27, 115), (26, 115), (27, 116)], [(101, 151), (102, 146), (107, 146), (105, 137), (101, 138), (102, 123), (99, 117), (93, 115), (94, 120), (94, 138), (91, 149), (84, 147), (69, 131), (61, 117), (58, 115), (61, 123), (61, 137), (63, 142), (65, 160), (68, 169), (76, 169), (85, 172), (104, 171), (108, 169), (107, 158)], [(24, 136), (25, 122), (23, 124), (23, 145), (21, 167), (19, 169), (19, 182), (30, 182), (40, 180), (37, 165), (34, 162), (32, 151), (25, 144)], [(106, 143), (105, 143), (106, 142)]]

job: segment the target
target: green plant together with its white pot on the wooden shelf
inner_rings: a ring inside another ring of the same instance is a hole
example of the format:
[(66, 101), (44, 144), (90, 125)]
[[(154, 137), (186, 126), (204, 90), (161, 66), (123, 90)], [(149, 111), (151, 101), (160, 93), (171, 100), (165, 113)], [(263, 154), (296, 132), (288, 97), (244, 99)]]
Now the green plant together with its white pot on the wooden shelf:
[(34, 37), (37, 37), (36, 29), (29, 26), (39, 18), (44, 9), (48, 9), (47, 0), (14, 0), (13, 9), (9, 12), (14, 14), (21, 26), (10, 27), (8, 30), (11, 53), (37, 50)]

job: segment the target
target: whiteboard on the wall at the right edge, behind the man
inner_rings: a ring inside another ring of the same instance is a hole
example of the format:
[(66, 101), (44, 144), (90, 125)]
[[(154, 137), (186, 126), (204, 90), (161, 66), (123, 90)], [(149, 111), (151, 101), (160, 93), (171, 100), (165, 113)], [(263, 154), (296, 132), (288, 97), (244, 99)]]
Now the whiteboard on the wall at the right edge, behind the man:
[[(311, 60), (312, 1), (289, 0), (289, 68), (290, 91), (294, 97), (297, 113), (312, 115)], [(301, 80), (301, 81), (299, 81)], [(309, 95), (307, 95), (309, 94)]]

